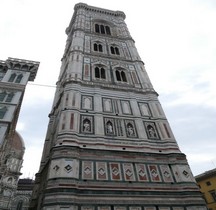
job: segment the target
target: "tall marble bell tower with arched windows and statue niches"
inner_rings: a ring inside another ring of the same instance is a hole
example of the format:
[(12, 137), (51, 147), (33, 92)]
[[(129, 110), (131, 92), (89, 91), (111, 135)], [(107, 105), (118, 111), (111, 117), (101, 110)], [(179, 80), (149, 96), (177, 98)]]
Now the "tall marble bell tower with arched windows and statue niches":
[(206, 210), (121, 11), (79, 3), (31, 209)]

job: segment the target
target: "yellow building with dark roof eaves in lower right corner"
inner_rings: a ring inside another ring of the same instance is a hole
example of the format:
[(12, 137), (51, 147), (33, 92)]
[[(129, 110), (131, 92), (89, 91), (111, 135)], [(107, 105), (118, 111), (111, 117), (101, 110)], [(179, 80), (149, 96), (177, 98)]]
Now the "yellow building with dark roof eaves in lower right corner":
[(216, 210), (216, 169), (195, 177), (209, 210)]

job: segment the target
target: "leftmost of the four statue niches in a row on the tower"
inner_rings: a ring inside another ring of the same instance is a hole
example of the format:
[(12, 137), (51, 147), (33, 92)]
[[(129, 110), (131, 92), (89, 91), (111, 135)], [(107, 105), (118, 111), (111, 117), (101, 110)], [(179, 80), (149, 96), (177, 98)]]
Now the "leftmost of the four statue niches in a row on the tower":
[(93, 116), (81, 115), (80, 122), (81, 122), (81, 125), (80, 125), (81, 133), (88, 133), (88, 134), (94, 133), (94, 118), (93, 118)]

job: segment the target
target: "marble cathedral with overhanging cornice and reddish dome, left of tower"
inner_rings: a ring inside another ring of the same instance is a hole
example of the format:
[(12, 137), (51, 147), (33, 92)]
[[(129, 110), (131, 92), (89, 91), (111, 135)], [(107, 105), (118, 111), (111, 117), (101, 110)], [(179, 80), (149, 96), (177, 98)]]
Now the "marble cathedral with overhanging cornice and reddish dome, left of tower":
[(25, 145), (16, 124), (28, 81), (39, 62), (8, 58), (0, 61), (0, 209), (10, 209), (21, 175)]

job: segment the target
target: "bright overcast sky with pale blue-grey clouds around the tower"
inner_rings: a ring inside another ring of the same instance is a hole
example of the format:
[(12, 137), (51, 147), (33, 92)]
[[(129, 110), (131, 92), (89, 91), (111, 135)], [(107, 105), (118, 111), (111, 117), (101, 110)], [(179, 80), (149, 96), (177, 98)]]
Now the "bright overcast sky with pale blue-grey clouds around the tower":
[[(22, 177), (38, 172), (74, 0), (1, 0), (0, 60), (40, 62), (17, 130)], [(216, 167), (216, 1), (83, 0), (121, 10), (175, 138), (194, 175)], [(37, 85), (36, 85), (37, 84)], [(45, 85), (45, 86), (43, 86)]]

